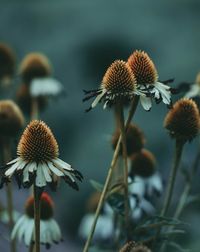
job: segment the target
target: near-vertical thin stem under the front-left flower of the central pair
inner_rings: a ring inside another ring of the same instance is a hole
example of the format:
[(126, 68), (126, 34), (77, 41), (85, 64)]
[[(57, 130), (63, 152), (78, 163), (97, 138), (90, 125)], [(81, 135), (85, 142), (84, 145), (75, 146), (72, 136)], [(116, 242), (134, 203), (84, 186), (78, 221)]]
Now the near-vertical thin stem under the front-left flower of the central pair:
[(118, 104), (118, 121), (122, 137), (122, 152), (124, 161), (125, 226), (127, 232), (127, 239), (129, 240), (130, 235), (129, 235), (129, 200), (128, 200), (128, 159), (127, 159), (127, 147), (126, 147), (126, 131), (124, 126), (124, 112), (123, 112), (123, 105), (121, 103)]

